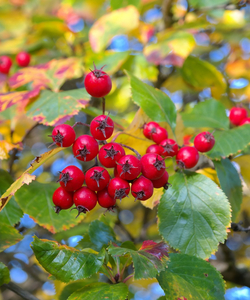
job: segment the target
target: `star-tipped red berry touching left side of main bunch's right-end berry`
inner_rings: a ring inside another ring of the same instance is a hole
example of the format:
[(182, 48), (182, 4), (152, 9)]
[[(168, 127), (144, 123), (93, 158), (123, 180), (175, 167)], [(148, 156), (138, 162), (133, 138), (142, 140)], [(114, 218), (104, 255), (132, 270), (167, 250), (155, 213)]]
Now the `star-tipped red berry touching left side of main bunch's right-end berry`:
[(124, 155), (117, 163), (117, 174), (125, 180), (133, 180), (141, 173), (141, 162), (134, 155)]

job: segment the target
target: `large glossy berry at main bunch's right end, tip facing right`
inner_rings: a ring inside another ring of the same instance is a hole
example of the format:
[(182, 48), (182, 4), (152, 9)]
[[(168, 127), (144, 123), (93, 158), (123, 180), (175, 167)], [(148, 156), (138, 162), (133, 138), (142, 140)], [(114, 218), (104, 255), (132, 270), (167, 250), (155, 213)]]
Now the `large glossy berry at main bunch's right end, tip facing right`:
[(165, 172), (165, 161), (158, 154), (148, 153), (141, 158), (142, 175), (148, 179), (158, 179)]

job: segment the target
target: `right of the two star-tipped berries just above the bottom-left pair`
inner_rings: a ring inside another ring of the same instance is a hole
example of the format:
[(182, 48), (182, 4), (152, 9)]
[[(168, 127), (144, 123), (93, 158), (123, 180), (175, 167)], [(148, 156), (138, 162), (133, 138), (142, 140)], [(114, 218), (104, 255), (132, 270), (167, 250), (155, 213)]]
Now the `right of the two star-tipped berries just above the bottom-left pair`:
[(110, 176), (106, 169), (102, 167), (93, 167), (86, 172), (85, 182), (92, 191), (101, 191), (109, 183)]

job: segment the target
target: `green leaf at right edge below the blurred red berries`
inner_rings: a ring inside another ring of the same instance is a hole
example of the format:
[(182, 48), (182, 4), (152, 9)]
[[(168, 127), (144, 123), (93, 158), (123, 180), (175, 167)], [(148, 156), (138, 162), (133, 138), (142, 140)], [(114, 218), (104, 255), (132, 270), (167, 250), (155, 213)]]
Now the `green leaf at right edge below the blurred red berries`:
[(207, 156), (212, 159), (221, 159), (237, 154), (250, 144), (250, 125), (239, 126), (230, 130), (214, 133), (215, 145)]

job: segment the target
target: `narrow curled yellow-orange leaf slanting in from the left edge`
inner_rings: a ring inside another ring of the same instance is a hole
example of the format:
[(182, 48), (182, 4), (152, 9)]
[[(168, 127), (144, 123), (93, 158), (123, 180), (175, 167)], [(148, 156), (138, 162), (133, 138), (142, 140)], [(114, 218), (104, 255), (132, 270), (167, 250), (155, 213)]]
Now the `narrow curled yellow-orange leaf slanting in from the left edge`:
[(7, 189), (7, 191), (2, 195), (0, 199), (0, 211), (5, 207), (10, 198), (15, 194), (15, 192), (20, 189), (24, 184), (29, 184), (32, 180), (36, 178), (35, 175), (31, 175), (37, 168), (39, 168), (43, 163), (45, 163), (49, 158), (58, 152), (62, 151), (64, 148), (58, 147), (48, 152), (43, 153), (41, 156), (37, 156), (32, 162), (31, 166)]

